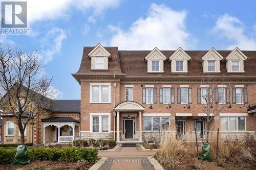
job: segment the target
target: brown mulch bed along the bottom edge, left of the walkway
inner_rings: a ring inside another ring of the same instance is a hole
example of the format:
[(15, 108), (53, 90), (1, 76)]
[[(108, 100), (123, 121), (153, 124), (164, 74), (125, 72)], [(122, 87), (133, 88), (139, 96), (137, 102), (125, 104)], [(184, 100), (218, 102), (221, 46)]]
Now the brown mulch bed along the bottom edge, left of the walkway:
[(58, 161), (34, 161), (26, 165), (16, 165), (12, 166), (11, 164), (0, 165), (0, 169), (28, 169), (28, 170), (80, 170), (80, 169), (89, 169), (94, 163), (76, 163), (76, 162), (58, 162)]

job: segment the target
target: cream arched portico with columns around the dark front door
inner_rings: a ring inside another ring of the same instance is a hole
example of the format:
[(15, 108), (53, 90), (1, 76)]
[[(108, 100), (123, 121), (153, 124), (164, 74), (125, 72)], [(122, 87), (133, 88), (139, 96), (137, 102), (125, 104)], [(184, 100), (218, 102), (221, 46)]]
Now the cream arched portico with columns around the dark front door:
[(142, 111), (144, 107), (137, 102), (126, 101), (117, 105), (114, 110), (117, 117), (117, 142), (121, 142), (121, 140), (136, 141), (136, 139), (142, 142)]

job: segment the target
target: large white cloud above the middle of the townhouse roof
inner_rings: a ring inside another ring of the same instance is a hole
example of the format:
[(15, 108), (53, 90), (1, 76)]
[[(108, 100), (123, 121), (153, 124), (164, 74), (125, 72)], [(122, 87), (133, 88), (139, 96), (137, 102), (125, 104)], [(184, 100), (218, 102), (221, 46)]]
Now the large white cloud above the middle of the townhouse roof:
[(122, 50), (176, 50), (179, 46), (188, 50), (195, 44), (185, 27), (186, 11), (175, 11), (166, 5), (151, 4), (146, 18), (139, 18), (128, 30), (109, 26), (114, 32), (111, 46)]

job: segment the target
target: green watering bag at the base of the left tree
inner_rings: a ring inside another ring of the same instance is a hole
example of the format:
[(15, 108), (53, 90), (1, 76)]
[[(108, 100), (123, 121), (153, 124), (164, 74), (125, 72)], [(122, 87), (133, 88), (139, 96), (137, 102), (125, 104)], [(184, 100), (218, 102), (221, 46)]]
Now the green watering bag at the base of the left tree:
[(30, 160), (27, 147), (25, 145), (18, 145), (17, 152), (12, 162), (12, 165), (27, 164), (29, 162)]

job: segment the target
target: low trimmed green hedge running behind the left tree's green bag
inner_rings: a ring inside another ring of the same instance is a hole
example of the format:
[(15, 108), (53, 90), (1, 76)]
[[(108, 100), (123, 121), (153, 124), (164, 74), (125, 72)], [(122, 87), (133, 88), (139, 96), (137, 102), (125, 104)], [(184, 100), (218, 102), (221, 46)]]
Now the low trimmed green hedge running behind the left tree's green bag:
[[(0, 164), (11, 163), (15, 157), (16, 149), (0, 148)], [(92, 148), (33, 148), (28, 149), (29, 158), (35, 160), (72, 162), (82, 160), (91, 162), (97, 159), (98, 150)]]

